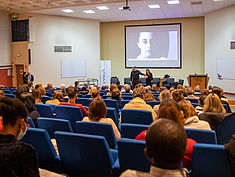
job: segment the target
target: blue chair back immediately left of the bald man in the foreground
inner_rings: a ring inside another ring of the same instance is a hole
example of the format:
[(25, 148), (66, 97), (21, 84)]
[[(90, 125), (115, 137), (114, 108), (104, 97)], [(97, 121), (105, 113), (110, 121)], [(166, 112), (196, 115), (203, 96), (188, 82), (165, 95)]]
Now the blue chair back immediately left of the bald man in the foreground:
[(118, 157), (121, 171), (133, 169), (148, 172), (150, 162), (144, 154), (145, 141), (118, 139)]

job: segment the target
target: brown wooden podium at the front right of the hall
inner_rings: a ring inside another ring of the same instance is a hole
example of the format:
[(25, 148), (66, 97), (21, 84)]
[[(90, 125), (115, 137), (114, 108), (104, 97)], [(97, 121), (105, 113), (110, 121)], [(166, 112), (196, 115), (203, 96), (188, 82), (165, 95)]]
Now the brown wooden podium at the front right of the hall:
[(196, 85), (199, 85), (201, 90), (204, 90), (207, 88), (207, 84), (209, 81), (209, 77), (207, 76), (207, 74), (195, 74), (195, 75), (189, 75), (189, 77), (187, 77), (188, 79), (188, 83), (189, 86), (192, 87), (194, 89), (194, 87)]

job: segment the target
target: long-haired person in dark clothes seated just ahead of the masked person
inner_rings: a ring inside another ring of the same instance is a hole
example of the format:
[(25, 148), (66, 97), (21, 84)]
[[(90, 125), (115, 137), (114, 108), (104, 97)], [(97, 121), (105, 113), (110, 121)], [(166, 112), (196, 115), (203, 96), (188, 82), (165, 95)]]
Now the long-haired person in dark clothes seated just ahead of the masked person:
[(36, 111), (35, 101), (31, 93), (21, 93), (19, 96), (19, 100), (25, 104), (29, 117), (33, 120), (35, 127), (38, 128), (38, 118), (40, 114)]

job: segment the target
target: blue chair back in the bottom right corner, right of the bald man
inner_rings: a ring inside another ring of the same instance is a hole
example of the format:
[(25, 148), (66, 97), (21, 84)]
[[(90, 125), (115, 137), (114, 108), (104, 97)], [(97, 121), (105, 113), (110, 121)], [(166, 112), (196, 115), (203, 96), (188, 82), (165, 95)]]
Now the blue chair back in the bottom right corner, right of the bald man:
[(231, 177), (223, 145), (195, 144), (193, 147), (192, 177)]

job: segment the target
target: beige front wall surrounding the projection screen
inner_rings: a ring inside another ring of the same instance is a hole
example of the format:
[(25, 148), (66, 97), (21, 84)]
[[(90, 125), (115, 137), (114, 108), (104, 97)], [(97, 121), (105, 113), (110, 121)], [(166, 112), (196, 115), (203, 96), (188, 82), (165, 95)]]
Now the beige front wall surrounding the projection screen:
[(130, 69), (125, 69), (124, 26), (164, 23), (182, 23), (182, 68), (151, 69), (154, 77), (169, 74), (177, 80), (184, 79), (187, 84), (186, 78), (189, 74), (204, 74), (204, 17), (196, 17), (101, 23), (101, 59), (111, 60), (112, 76), (117, 76), (123, 83), (123, 78), (130, 75)]

